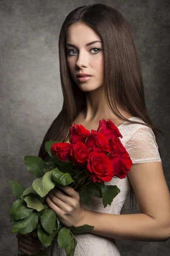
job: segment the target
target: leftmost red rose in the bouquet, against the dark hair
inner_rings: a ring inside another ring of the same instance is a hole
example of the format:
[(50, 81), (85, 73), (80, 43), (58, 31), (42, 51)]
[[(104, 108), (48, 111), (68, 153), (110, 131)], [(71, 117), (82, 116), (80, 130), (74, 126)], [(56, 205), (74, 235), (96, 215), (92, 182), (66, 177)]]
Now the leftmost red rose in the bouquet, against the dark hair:
[(52, 155), (57, 154), (57, 157), (65, 162), (70, 156), (72, 147), (73, 145), (71, 143), (54, 143), (51, 147), (51, 153)]

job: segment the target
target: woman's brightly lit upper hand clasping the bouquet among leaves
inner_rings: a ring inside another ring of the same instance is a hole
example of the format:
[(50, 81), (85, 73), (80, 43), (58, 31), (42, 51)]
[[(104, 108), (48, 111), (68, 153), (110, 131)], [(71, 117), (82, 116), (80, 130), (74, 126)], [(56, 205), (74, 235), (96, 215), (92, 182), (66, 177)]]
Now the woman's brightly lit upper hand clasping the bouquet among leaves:
[[(63, 192), (60, 189), (62, 189)], [(65, 227), (80, 226), (79, 223), (81, 223), (85, 217), (85, 209), (82, 207), (79, 193), (71, 186), (59, 185), (59, 189), (51, 189), (46, 198), (46, 202), (48, 206), (54, 210)]]

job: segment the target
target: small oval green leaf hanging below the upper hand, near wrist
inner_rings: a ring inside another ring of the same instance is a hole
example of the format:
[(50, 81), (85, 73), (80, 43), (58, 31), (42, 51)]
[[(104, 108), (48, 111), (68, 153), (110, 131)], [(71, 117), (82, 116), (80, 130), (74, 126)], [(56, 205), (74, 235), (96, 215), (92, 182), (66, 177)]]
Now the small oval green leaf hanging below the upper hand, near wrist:
[(63, 227), (62, 229), (59, 230), (58, 233), (58, 246), (59, 248), (65, 248), (72, 242), (72, 236), (70, 233), (70, 230), (66, 227)]

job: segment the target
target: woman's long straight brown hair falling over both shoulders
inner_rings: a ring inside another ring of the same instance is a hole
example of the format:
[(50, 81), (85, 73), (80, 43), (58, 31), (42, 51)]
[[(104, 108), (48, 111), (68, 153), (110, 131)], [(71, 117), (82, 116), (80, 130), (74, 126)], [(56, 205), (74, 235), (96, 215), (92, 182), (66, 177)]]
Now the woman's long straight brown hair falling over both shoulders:
[[(64, 98), (63, 105), (62, 110), (57, 118), (54, 119), (43, 138), (38, 156), (45, 160), (47, 156), (45, 151), (46, 141), (68, 141), (70, 127), (79, 112), (86, 108), (85, 92), (80, 90), (72, 79), (66, 60), (66, 33), (68, 26), (73, 23), (85, 23), (94, 29), (102, 39), (104, 53), (103, 86), (108, 108), (124, 122), (139, 123), (151, 127), (161, 155), (157, 132), (164, 134), (153, 126), (147, 111), (142, 70), (130, 26), (117, 9), (98, 3), (81, 6), (73, 10), (62, 24), (58, 46), (60, 79)], [(117, 104), (132, 116), (141, 118), (145, 124), (126, 119), (119, 113)], [(132, 186), (129, 195), (130, 204), (131, 201), (134, 203), (136, 195)], [(122, 210), (120, 214), (122, 214)], [(133, 211), (133, 204), (131, 211)]]

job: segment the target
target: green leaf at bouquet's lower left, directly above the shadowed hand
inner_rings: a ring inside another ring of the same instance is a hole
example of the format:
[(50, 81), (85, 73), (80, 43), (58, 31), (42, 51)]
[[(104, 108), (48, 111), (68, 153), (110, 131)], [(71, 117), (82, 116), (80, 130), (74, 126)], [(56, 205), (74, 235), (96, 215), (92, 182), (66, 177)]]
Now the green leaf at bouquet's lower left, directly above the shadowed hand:
[(38, 216), (36, 212), (31, 212), (31, 214), (27, 218), (14, 221), (11, 232), (26, 235), (32, 232), (37, 227), (38, 227)]

